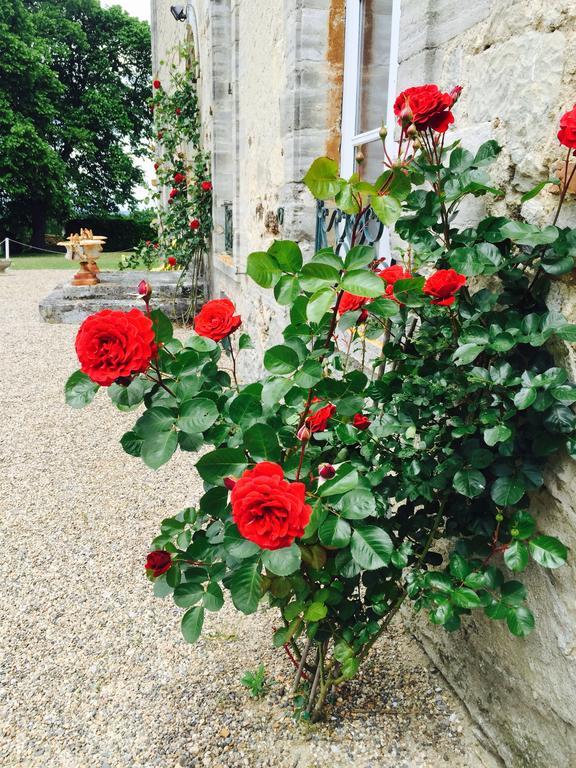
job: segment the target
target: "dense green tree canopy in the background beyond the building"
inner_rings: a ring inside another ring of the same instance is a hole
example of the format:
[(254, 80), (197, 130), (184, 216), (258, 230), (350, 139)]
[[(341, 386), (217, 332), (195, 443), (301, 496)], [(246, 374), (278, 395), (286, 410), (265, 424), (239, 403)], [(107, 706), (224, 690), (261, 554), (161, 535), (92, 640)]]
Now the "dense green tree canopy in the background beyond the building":
[(142, 180), (150, 30), (98, 0), (0, 0), (0, 219), (117, 211)]

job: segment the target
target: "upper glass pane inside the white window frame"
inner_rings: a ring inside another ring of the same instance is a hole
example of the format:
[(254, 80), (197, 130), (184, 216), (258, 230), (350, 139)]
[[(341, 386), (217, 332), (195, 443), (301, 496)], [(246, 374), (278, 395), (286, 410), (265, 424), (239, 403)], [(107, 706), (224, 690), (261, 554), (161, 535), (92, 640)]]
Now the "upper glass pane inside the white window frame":
[(362, 1), (358, 133), (379, 128), (386, 119), (391, 22), (392, 0)]

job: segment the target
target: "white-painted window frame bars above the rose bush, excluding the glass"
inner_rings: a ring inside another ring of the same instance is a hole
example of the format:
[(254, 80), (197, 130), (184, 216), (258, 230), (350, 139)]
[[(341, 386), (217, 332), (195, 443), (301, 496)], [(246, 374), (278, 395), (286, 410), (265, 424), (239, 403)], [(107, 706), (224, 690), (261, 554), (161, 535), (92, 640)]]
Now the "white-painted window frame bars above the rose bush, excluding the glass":
[[(358, 104), (360, 95), (360, 56), (362, 54), (362, 3), (365, 0), (346, 0), (346, 27), (344, 37), (344, 85), (342, 93), (342, 139), (340, 148), (340, 172), (344, 178), (354, 173), (356, 147), (379, 139), (380, 126), (357, 133)], [(392, 0), (390, 23), (390, 69), (388, 75), (388, 100), (386, 148), (394, 147), (394, 100), (398, 79), (398, 48), (400, 41), (400, 3)]]

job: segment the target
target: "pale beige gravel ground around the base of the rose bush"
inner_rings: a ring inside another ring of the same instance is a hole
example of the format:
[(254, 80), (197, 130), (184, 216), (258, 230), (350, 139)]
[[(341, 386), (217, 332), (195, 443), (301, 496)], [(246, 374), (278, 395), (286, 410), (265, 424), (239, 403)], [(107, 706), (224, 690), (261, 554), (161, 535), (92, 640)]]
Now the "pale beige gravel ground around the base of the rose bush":
[[(0, 277), (0, 765), (493, 768), (402, 627), (314, 727), (282, 696), (271, 612), (225, 608), (184, 643), (143, 561), (159, 521), (199, 495), (193, 461), (152, 472), (118, 443), (133, 415), (103, 394), (65, 406), (76, 328), (42, 324), (37, 305), (68, 277)], [(239, 678), (260, 660), (273, 685), (254, 701)]]

